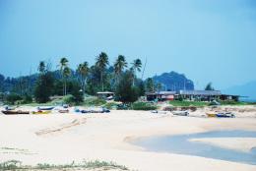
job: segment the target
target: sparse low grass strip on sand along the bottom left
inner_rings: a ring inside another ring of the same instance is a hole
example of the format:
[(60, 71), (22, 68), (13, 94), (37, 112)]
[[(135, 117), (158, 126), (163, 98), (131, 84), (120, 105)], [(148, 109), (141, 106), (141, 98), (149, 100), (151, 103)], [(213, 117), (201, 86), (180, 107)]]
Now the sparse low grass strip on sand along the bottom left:
[(102, 170), (129, 170), (126, 166), (118, 165), (114, 162), (106, 162), (106, 161), (84, 161), (82, 163), (72, 162), (71, 164), (64, 165), (55, 165), (55, 164), (47, 164), (47, 163), (39, 163), (35, 166), (23, 165), (21, 161), (18, 160), (9, 160), (6, 162), (0, 163), (0, 170), (33, 170), (33, 171), (41, 171), (41, 170), (82, 170), (82, 169), (102, 169)]

